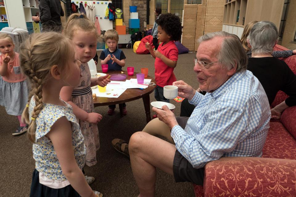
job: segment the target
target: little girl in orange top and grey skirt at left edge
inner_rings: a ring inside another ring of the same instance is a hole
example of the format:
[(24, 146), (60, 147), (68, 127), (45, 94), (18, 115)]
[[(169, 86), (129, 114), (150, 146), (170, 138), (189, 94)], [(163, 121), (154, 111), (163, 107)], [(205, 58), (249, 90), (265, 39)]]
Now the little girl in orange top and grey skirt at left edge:
[(14, 43), (8, 34), (0, 34), (0, 105), (6, 113), (19, 119), (19, 128), (12, 135), (27, 131), (27, 124), (21, 121), (29, 95), (26, 77), (21, 73), (19, 54), (14, 52)]

